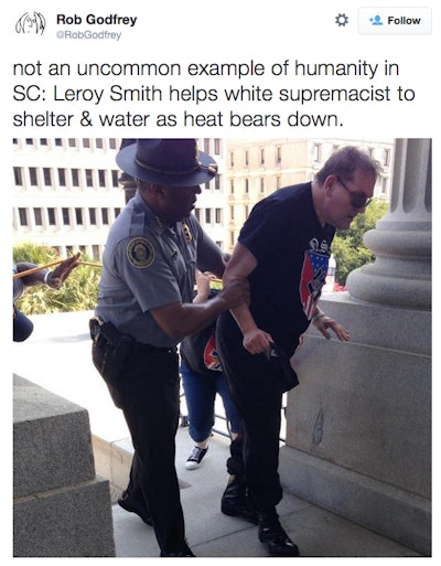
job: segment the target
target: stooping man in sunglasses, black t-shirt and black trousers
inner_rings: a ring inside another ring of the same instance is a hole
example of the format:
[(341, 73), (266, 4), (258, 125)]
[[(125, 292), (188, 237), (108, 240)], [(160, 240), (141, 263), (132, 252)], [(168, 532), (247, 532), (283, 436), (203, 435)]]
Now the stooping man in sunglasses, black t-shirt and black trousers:
[(232, 445), (222, 511), (248, 519), (254, 509), (271, 556), (299, 556), (276, 511), (282, 394), (298, 384), (289, 361), (311, 321), (326, 339), (329, 329), (349, 339), (319, 299), (335, 229), (347, 229), (365, 211), (378, 174), (378, 163), (358, 149), (335, 152), (313, 182), (276, 191), (252, 209), (224, 274), (224, 284), (248, 277), (251, 300), (223, 313), (216, 329), (243, 427)]

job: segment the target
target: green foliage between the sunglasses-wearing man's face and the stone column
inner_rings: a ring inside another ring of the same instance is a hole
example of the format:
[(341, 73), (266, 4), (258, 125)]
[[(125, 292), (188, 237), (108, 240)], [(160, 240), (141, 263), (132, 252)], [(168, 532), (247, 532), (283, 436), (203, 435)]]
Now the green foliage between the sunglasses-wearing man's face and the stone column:
[(386, 214), (389, 204), (375, 199), (364, 214), (358, 214), (349, 229), (337, 231), (332, 244), (332, 252), (337, 264), (335, 280), (340, 285), (346, 282), (347, 276), (354, 269), (365, 264), (372, 264), (375, 255), (363, 244), (363, 237)]

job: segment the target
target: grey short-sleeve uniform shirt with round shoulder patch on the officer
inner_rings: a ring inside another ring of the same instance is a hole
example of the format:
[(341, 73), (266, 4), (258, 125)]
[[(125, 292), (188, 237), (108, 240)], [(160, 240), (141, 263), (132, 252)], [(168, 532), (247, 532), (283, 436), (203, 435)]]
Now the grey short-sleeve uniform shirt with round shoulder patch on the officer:
[(96, 314), (139, 342), (176, 345), (149, 311), (192, 302), (195, 268), (212, 270), (220, 260), (219, 247), (193, 215), (165, 226), (137, 193), (110, 228)]

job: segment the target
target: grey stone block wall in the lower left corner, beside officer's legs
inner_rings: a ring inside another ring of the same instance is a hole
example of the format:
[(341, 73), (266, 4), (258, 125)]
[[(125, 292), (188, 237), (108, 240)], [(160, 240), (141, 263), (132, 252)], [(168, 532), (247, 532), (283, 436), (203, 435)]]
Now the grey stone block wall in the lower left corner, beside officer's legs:
[(19, 376), (13, 556), (115, 556), (109, 484), (95, 474), (87, 412)]

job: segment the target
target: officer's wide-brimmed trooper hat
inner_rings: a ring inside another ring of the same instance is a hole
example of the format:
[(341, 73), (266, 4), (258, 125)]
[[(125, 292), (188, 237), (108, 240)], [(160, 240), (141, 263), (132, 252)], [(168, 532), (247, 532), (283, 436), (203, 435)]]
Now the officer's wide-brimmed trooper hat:
[(118, 165), (135, 179), (165, 186), (192, 186), (217, 174), (215, 160), (195, 139), (137, 139), (117, 153)]

